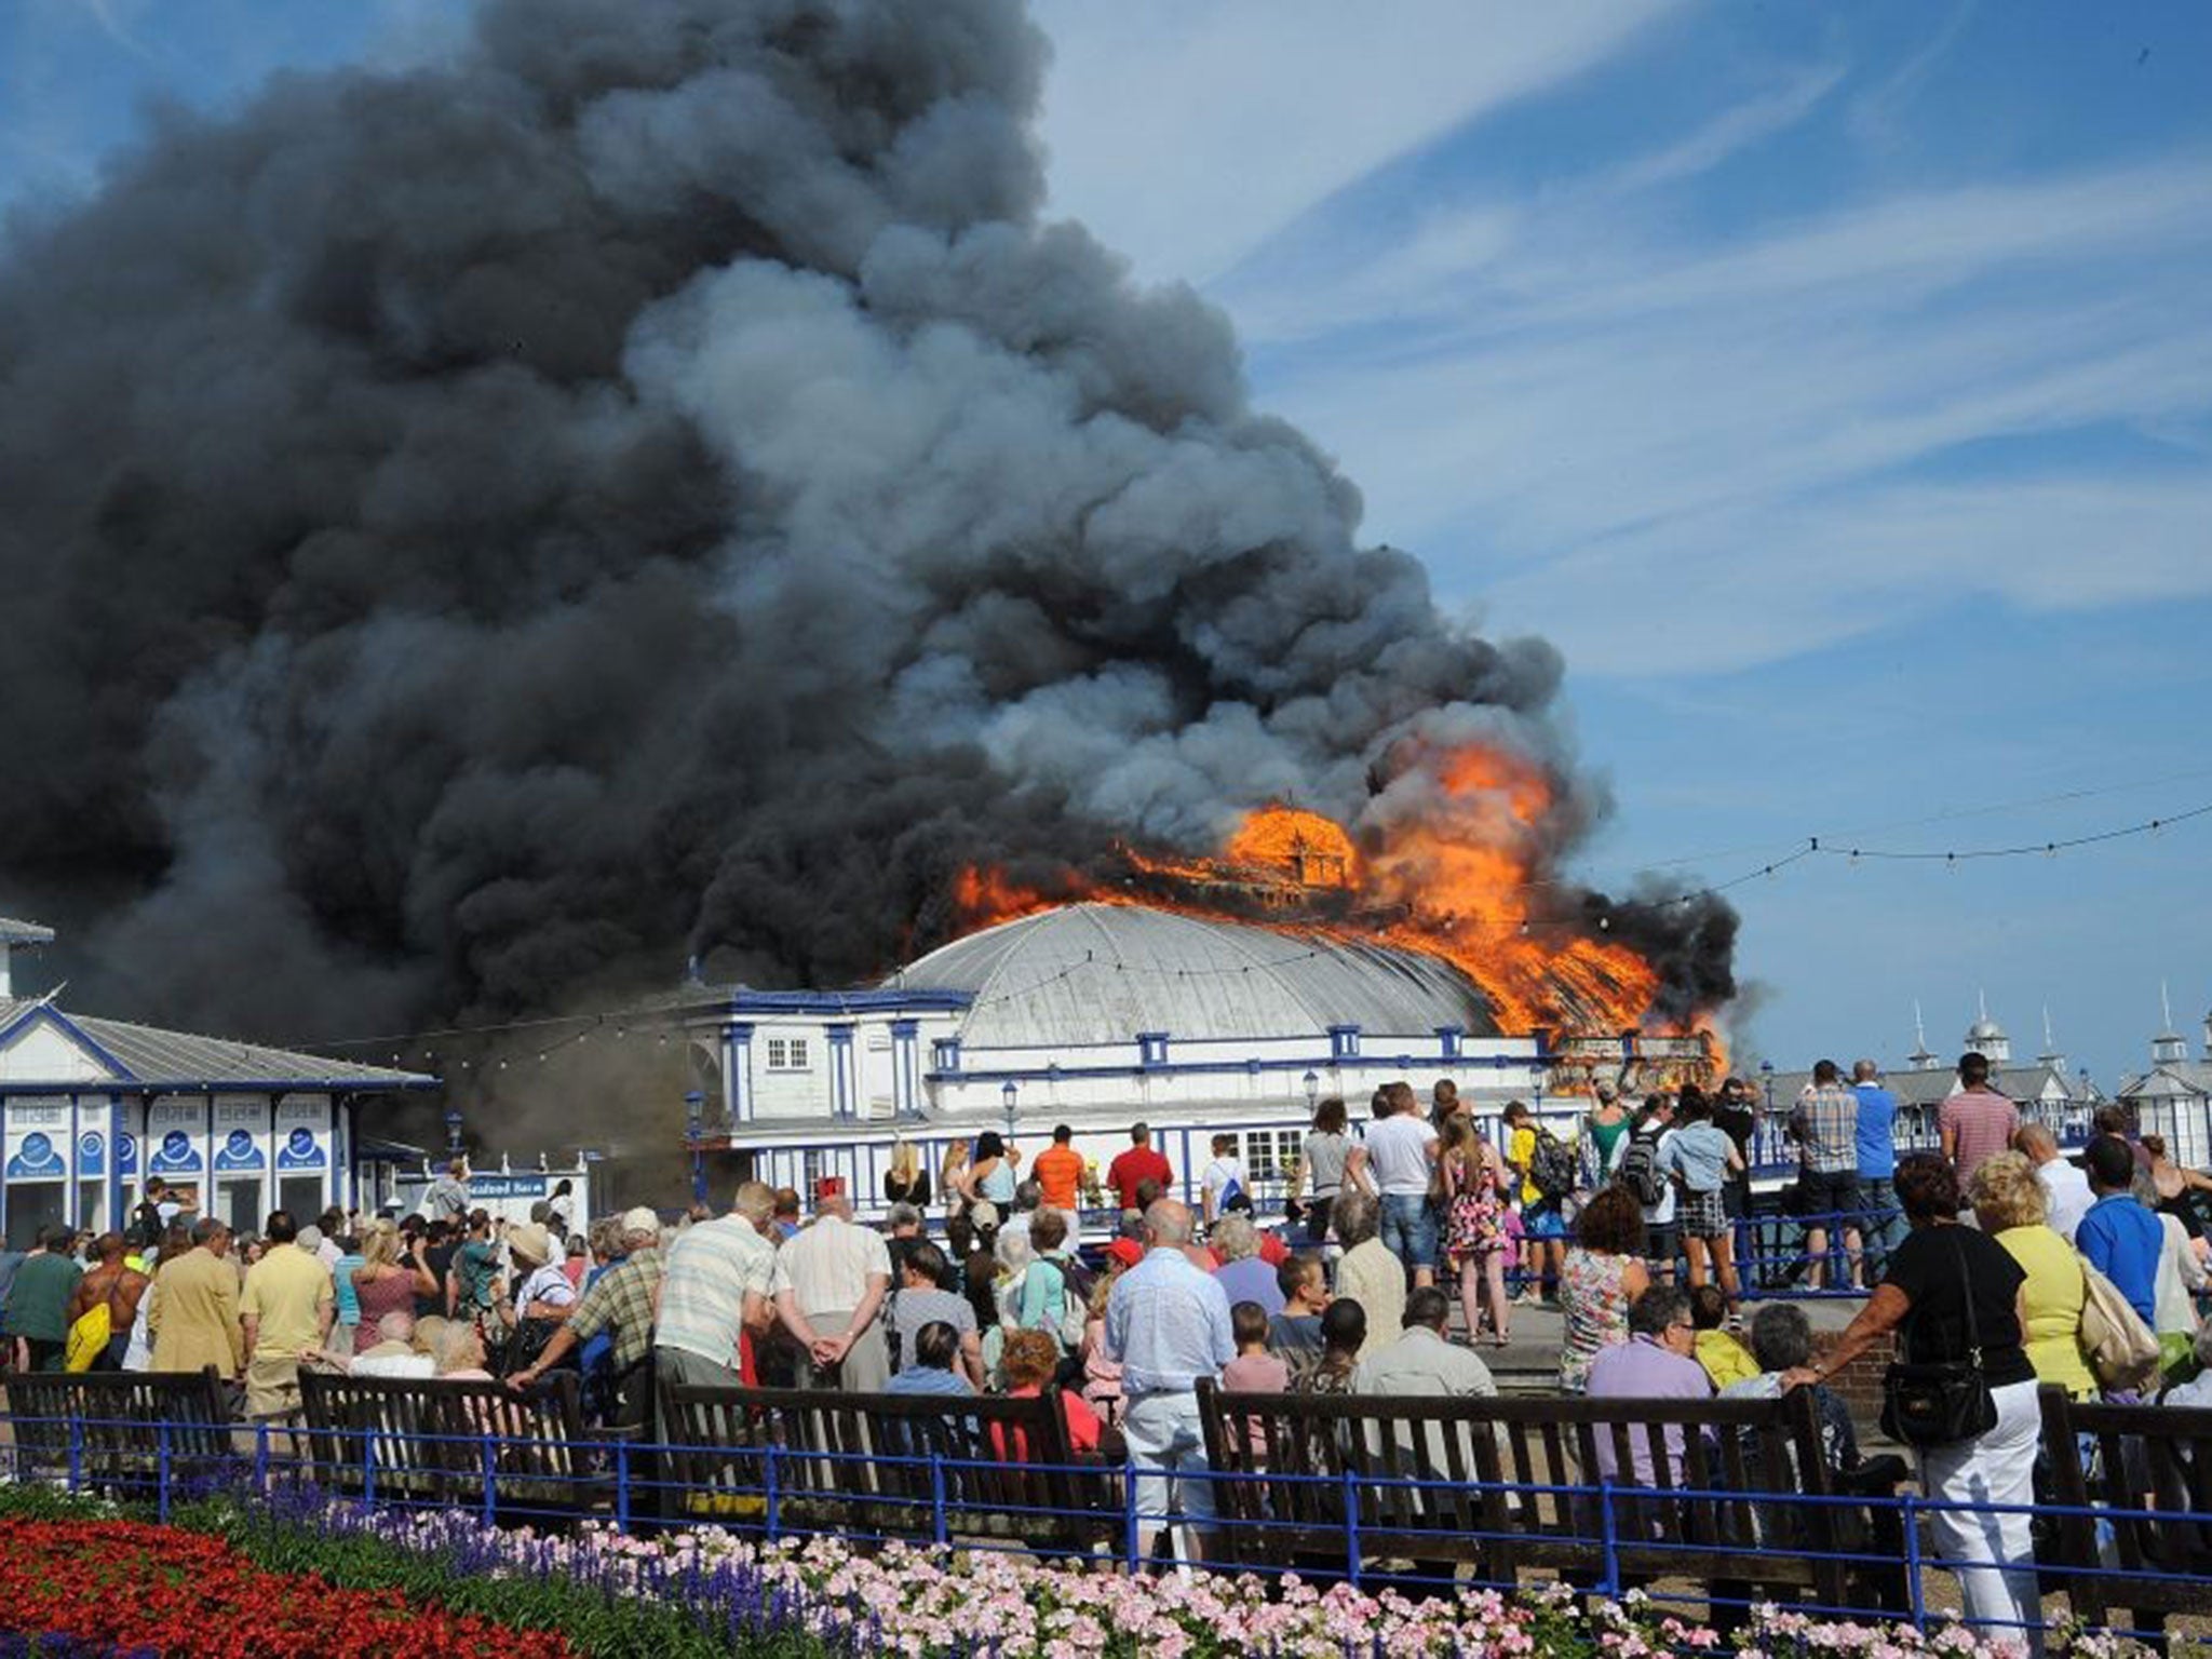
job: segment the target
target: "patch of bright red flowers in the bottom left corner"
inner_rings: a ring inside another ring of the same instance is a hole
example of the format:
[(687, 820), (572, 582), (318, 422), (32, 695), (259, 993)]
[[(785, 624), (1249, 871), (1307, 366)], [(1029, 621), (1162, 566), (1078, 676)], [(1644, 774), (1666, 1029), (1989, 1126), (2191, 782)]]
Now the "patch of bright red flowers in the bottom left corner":
[[(254, 1566), (221, 1537), (124, 1520), (0, 1517), (0, 1619), (40, 1650), (179, 1659), (568, 1659), (551, 1630), (409, 1604), (398, 1590), (341, 1590)], [(69, 1644), (75, 1644), (73, 1648)], [(93, 1648), (97, 1650), (97, 1648)]]

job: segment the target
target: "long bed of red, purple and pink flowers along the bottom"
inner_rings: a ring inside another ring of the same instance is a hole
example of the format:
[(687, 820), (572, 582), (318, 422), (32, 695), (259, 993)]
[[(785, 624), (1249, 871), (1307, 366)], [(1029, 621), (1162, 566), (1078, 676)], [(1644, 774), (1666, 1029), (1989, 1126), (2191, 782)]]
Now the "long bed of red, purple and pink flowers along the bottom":
[[(9, 1511), (0, 1624), (122, 1650), (157, 1639), (177, 1655), (1650, 1659), (1723, 1646), (1641, 1595), (1586, 1606), (1562, 1586), (1411, 1601), (1349, 1584), (1130, 1577), (993, 1551), (763, 1546), (712, 1526), (533, 1535), (465, 1511), (281, 1491), (179, 1506), (175, 1528), (91, 1522), (82, 1502), (0, 1489), (0, 1515)], [(1743, 1659), (2002, 1659), (2020, 1648), (1949, 1624), (1920, 1632), (1774, 1608), (1754, 1610), (1736, 1637)], [(2048, 1646), (2073, 1659), (2130, 1650), (2106, 1637)]]

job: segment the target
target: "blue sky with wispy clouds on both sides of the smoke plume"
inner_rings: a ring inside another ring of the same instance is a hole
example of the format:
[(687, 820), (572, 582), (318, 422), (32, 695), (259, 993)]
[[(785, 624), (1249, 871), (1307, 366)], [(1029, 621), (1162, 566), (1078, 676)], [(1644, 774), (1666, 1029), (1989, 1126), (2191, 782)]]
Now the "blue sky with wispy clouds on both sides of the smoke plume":
[[(0, 199), (440, 0), (9, 0)], [(1544, 633), (1584, 874), (2212, 801), (2212, 9), (1042, 0), (1053, 208), (1192, 281), (1442, 602)], [(2212, 1006), (2212, 818), (1739, 889), (1776, 1064), (1986, 991), (2110, 1086)]]

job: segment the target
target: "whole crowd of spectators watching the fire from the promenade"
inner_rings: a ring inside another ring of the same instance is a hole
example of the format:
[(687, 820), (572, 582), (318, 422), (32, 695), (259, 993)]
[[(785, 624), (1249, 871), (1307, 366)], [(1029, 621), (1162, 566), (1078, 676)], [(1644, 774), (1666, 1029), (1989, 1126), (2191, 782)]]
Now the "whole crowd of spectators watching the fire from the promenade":
[[(1077, 1203), (1097, 1192), (1057, 1128), (1029, 1172), (995, 1133), (936, 1172), (945, 1243), (929, 1237), (931, 1172), (894, 1161), (889, 1225), (843, 1192), (739, 1186), (726, 1214), (664, 1221), (637, 1208), (564, 1237), (562, 1217), (502, 1223), (436, 1192), (438, 1214), (296, 1225), (272, 1212), (254, 1241), (215, 1219), (153, 1210), (131, 1234), (51, 1232), (4, 1263), (4, 1332), (20, 1367), (179, 1371), (215, 1365), (241, 1411), (281, 1420), (301, 1367), (365, 1376), (504, 1378), (555, 1369), (586, 1383), (595, 1420), (650, 1422), (655, 1380), (843, 1391), (1035, 1396), (1057, 1385), (1068, 1444), (1128, 1462), (1144, 1513), (1177, 1511), (1201, 1555), (1212, 1522), (1197, 1385), (1239, 1394), (1489, 1396), (1480, 1356), (1511, 1310), (1562, 1316), (1557, 1389), (1630, 1400), (1814, 1391), (1823, 1458), (1849, 1491), (1880, 1493), (1898, 1458), (1865, 1458), (1834, 1374), (1876, 1343), (1913, 1365), (1980, 1358), (1993, 1422), (1918, 1449), (1931, 1498), (2026, 1504), (2037, 1495), (2037, 1385), (2115, 1394), (2086, 1316), (2099, 1285), (2154, 1334), (2159, 1360), (2124, 1398), (2194, 1400), (2212, 1340), (2199, 1327), (2212, 1179), (2106, 1119), (2079, 1161), (1960, 1062), (1936, 1152), (1898, 1155), (1896, 1097), (1874, 1066), (1814, 1068), (1783, 1119), (1801, 1161), (1812, 1283), (1867, 1301), (1816, 1347), (1790, 1303), (1745, 1329), (1734, 1256), (1750, 1210), (1756, 1113), (1741, 1079), (1639, 1104), (1599, 1088), (1559, 1135), (1509, 1106), (1489, 1139), (1444, 1086), (1422, 1110), (1407, 1084), (1376, 1091), (1354, 1135), (1318, 1102), (1281, 1230), (1254, 1214), (1234, 1141), (1214, 1146), (1197, 1208), (1164, 1192), (1166, 1157), (1137, 1124), (1104, 1179), (1113, 1237), (1079, 1250)], [(1834, 1232), (1834, 1250), (1829, 1248)], [(1097, 1243), (1097, 1241), (1095, 1241)], [(1506, 1267), (1526, 1290), (1506, 1296)], [(1677, 1265), (1688, 1267), (1677, 1283)], [(1458, 1329), (1453, 1312), (1460, 1314)], [(1599, 1440), (1606, 1480), (1679, 1480), (1683, 1429), (1637, 1440), (1628, 1464)], [(1006, 1455), (1026, 1455), (1006, 1447)], [(2026, 1515), (1936, 1511), (1969, 1610), (2033, 1621)]]

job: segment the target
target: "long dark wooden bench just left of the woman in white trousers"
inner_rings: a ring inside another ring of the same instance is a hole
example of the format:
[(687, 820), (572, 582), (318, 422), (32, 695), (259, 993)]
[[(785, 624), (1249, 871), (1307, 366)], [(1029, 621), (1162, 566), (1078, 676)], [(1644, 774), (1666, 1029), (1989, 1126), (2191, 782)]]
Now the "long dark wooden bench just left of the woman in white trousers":
[[(1509, 1588), (1522, 1573), (1597, 1584), (1683, 1577), (1809, 1593), (1851, 1606), (1843, 1506), (1807, 1391), (1776, 1400), (1540, 1400), (1228, 1394), (1199, 1383), (1217, 1471), (1219, 1555), (1239, 1564), (1343, 1571), (1358, 1553), (1471, 1568)], [(1657, 1453), (1674, 1429), (1674, 1458)], [(1610, 1537), (1595, 1493), (1599, 1442), (1621, 1471)], [(1652, 1482), (1637, 1486), (1637, 1451)], [(1708, 1495), (1690, 1495), (1708, 1493)], [(1725, 1495), (1710, 1495), (1725, 1493)], [(1734, 1493), (1743, 1493), (1736, 1498)], [(1756, 1548), (1756, 1555), (1747, 1551)]]

